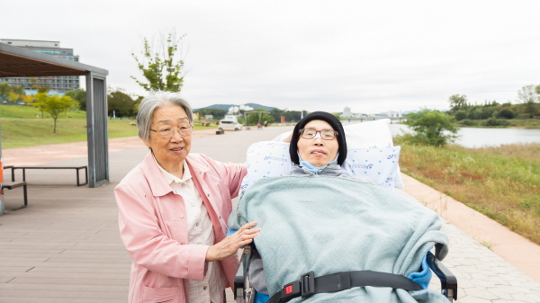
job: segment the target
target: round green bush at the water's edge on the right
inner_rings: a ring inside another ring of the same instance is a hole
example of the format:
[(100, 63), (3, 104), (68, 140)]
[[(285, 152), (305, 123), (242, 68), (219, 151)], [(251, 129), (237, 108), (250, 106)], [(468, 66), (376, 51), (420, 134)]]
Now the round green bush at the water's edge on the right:
[(405, 124), (414, 133), (402, 134), (401, 138), (412, 144), (442, 147), (458, 138), (454, 117), (444, 112), (428, 109), (411, 112)]

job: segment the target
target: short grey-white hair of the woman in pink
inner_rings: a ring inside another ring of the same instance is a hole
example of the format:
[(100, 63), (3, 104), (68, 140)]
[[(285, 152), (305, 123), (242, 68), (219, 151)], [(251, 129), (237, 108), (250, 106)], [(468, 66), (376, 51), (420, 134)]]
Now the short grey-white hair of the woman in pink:
[(139, 113), (137, 113), (137, 127), (139, 128), (139, 138), (148, 142), (150, 139), (150, 125), (154, 111), (165, 104), (180, 106), (187, 114), (189, 124), (193, 125), (193, 111), (187, 101), (182, 99), (180, 93), (155, 91), (148, 94), (140, 101)]

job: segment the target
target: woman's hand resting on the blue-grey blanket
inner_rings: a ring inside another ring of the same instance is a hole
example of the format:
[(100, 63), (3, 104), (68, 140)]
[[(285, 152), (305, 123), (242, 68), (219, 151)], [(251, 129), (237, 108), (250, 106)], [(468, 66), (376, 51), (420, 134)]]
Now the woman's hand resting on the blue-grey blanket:
[(212, 262), (226, 259), (232, 254), (236, 254), (238, 248), (253, 242), (253, 238), (258, 235), (261, 228), (249, 228), (256, 225), (256, 221), (249, 222), (245, 226), (240, 227), (236, 233), (221, 240), (220, 243), (211, 245), (206, 252), (206, 261)]

